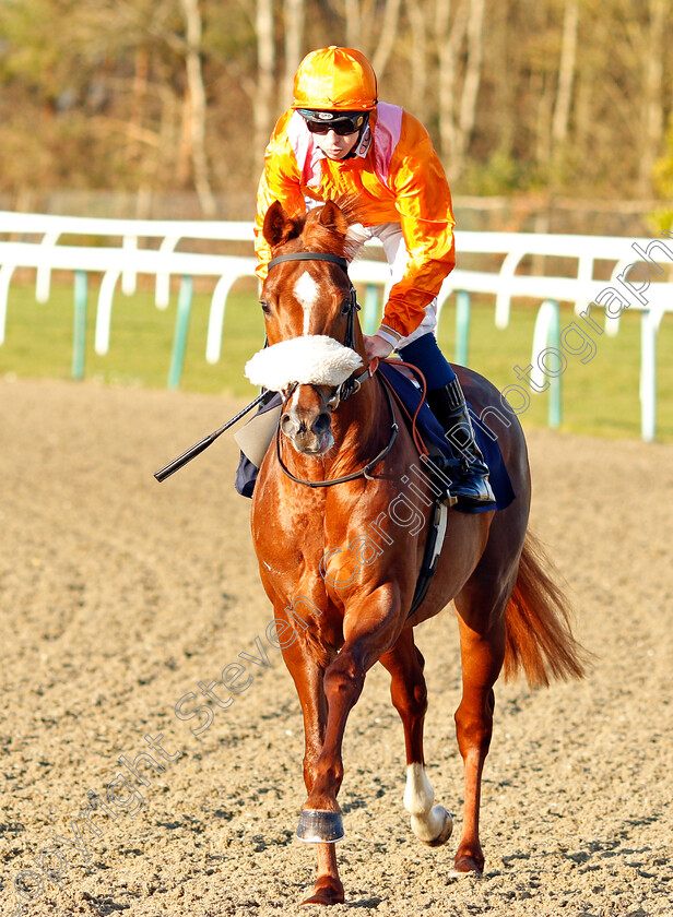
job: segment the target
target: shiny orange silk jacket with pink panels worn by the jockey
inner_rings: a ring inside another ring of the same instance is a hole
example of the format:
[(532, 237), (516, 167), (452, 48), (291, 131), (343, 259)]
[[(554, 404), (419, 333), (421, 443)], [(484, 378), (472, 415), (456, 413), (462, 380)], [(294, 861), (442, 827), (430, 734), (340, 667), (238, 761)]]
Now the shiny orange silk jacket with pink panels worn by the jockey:
[(409, 260), (390, 290), (383, 324), (408, 337), (456, 264), (451, 192), (430, 138), (413, 115), (383, 102), (352, 158), (329, 159), (312, 138), (293, 109), (274, 128), (257, 194), (257, 273), (263, 279), (271, 259), (262, 225), (273, 201), (296, 214), (329, 199), (354, 198), (364, 226), (398, 223), (402, 229)]

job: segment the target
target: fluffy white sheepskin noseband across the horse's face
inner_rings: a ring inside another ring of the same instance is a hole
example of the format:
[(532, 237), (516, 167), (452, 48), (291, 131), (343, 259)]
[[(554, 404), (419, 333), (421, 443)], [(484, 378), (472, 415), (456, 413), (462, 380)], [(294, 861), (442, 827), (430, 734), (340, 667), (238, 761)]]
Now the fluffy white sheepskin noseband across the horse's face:
[(288, 385), (341, 385), (358, 367), (362, 358), (324, 334), (306, 334), (264, 347), (246, 364), (246, 376), (253, 385), (282, 392)]

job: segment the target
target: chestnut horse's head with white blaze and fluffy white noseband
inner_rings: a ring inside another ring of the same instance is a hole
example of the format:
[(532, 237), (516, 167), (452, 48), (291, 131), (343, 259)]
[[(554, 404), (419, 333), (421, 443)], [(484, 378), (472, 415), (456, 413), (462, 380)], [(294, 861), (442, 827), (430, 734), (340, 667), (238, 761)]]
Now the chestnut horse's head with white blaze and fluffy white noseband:
[(295, 217), (275, 201), (262, 230), (272, 254), (261, 291), (269, 346), (246, 373), (253, 384), (281, 392), (281, 431), (308, 455), (334, 444), (332, 412), (365, 359), (346, 273), (347, 229), (332, 201)]

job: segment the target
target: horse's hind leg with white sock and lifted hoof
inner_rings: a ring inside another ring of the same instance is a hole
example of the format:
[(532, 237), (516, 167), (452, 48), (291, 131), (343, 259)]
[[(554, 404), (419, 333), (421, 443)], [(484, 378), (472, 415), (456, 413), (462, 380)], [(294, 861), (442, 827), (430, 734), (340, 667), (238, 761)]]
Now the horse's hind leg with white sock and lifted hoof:
[(381, 664), (391, 677), (390, 694), (404, 727), (406, 747), (406, 786), (404, 808), (411, 814), (416, 837), (430, 847), (438, 847), (451, 836), (453, 820), (444, 806), (434, 806), (435, 791), (425, 773), (423, 723), (427, 711), (425, 662), (414, 644), (413, 630), (408, 628), (394, 647), (381, 656)]

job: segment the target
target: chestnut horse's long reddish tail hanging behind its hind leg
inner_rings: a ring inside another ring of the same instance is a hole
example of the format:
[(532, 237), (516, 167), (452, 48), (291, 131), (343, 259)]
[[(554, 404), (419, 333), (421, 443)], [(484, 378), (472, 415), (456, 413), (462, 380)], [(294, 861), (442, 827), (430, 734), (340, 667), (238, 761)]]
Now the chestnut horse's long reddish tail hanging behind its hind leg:
[(531, 687), (582, 678), (589, 654), (570, 630), (568, 600), (550, 574), (540, 541), (526, 534), (519, 573), (505, 610), (505, 679), (521, 669)]

